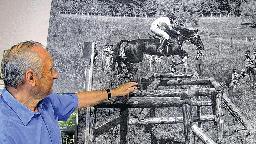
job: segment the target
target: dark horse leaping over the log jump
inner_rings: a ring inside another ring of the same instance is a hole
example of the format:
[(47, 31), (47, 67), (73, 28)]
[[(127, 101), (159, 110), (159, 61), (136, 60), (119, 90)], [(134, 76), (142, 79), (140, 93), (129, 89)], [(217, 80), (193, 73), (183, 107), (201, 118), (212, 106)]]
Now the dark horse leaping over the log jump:
[[(175, 30), (180, 32), (180, 35), (172, 34), (170, 31), (167, 31), (167, 34), (171, 36), (171, 43), (169, 49), (167, 46), (164, 48), (164, 53), (167, 56), (171, 55), (179, 55), (181, 56), (180, 60), (187, 59), (188, 53), (185, 50), (181, 49), (182, 42), (188, 40), (200, 50), (204, 50), (204, 44), (201, 41), (199, 35), (197, 34), (197, 30), (188, 30), (185, 28), (175, 28)], [(123, 42), (127, 42), (124, 47), (125, 57), (120, 57), (120, 45)], [(113, 48), (113, 67), (112, 70), (115, 70), (116, 61), (118, 64), (118, 72), (115, 75), (118, 75), (122, 72), (123, 62), (128, 72), (132, 70), (132, 67), (128, 64), (130, 63), (139, 63), (142, 62), (143, 56), (145, 54), (151, 55), (162, 55), (161, 53), (156, 51), (156, 48), (159, 46), (160, 40), (158, 38), (155, 39), (137, 39), (137, 40), (121, 40), (118, 42)]]

